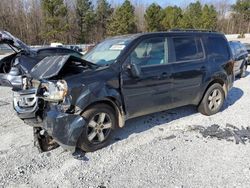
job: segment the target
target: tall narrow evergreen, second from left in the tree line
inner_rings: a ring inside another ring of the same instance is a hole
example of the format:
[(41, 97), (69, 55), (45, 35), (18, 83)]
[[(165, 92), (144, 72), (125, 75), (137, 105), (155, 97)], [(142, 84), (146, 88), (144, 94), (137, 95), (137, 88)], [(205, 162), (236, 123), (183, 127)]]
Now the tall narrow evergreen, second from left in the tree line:
[(76, 0), (76, 20), (78, 25), (77, 42), (91, 42), (95, 24), (95, 13), (90, 0)]

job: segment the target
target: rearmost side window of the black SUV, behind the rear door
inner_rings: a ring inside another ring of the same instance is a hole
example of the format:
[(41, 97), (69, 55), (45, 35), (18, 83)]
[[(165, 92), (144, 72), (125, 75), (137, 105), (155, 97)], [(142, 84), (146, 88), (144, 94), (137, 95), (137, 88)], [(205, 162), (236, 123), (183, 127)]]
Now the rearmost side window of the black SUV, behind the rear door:
[[(206, 40), (207, 56), (209, 58), (221, 58), (223, 60), (230, 59), (228, 42), (222, 37), (208, 37)], [(236, 48), (237, 53), (237, 48)]]

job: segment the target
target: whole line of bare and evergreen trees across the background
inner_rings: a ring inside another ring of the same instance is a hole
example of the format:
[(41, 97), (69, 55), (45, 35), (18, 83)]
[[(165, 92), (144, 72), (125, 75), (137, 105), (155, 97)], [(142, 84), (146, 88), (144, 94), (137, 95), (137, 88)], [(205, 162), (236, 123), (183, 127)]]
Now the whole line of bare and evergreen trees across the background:
[(250, 32), (250, 1), (226, 0), (187, 7), (146, 5), (141, 0), (1, 0), (0, 29), (31, 45), (95, 43), (108, 36), (169, 29)]

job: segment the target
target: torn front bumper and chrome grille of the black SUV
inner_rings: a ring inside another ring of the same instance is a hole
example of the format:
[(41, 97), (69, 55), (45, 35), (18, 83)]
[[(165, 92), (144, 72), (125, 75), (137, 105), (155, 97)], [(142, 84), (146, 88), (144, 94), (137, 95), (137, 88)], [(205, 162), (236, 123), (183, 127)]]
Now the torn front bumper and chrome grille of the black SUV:
[(58, 144), (74, 152), (86, 122), (79, 114), (65, 113), (60, 104), (47, 106), (42, 117), (36, 89), (14, 92), (13, 106), (19, 118), (34, 128), (34, 144), (49, 151)]

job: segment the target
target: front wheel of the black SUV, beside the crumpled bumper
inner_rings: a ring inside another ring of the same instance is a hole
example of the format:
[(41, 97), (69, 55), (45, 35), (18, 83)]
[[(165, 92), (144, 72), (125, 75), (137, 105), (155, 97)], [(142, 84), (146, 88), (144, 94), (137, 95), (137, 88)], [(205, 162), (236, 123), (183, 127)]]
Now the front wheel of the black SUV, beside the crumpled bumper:
[(82, 116), (86, 126), (77, 147), (85, 152), (93, 152), (107, 146), (117, 122), (114, 109), (106, 104), (97, 104), (87, 109)]

